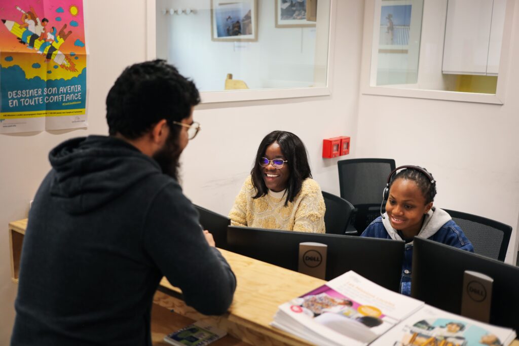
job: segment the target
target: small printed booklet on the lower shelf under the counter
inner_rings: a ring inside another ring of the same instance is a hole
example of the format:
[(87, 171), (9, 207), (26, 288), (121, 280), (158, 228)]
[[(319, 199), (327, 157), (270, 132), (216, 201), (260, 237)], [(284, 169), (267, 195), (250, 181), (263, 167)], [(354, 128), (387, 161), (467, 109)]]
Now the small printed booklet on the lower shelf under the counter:
[(164, 341), (176, 346), (204, 346), (226, 335), (225, 331), (198, 321), (166, 335)]

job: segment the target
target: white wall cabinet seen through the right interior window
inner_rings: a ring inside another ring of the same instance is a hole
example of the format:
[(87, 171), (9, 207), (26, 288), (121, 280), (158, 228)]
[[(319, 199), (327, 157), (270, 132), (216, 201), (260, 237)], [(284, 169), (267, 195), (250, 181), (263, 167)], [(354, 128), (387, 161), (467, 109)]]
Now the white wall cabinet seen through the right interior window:
[(497, 76), (506, 0), (448, 0), (443, 73)]

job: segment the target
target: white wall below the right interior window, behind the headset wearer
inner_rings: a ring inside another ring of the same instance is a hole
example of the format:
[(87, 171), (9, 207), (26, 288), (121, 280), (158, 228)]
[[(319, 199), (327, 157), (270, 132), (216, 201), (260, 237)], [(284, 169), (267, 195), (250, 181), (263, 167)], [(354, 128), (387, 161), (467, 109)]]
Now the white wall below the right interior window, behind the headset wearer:
[[(426, 7), (427, 8), (427, 7)], [(519, 6), (511, 62), (519, 59)], [(503, 105), (360, 95), (357, 157), (394, 158), (426, 167), (438, 181), (435, 205), (513, 227), (519, 215), (519, 65), (508, 67)]]

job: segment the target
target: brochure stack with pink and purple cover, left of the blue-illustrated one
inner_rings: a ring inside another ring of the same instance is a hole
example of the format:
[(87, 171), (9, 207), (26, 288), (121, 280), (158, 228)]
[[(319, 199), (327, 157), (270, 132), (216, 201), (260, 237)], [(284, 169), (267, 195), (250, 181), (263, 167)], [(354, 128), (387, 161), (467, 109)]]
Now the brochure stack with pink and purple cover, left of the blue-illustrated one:
[(318, 345), (366, 345), (423, 306), (349, 271), (279, 306), (272, 326)]

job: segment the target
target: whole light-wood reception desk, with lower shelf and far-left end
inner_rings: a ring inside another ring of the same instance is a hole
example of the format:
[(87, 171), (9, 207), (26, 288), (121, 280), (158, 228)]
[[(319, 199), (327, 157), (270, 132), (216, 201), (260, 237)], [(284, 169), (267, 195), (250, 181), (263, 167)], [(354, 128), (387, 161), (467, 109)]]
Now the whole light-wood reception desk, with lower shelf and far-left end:
[[(9, 223), (11, 270), (15, 282), (18, 282), (26, 226), (27, 219)], [(225, 250), (220, 251), (233, 268), (238, 281), (230, 311), (223, 316), (202, 315), (186, 306), (181, 299), (180, 290), (164, 278), (154, 297), (157, 305), (152, 314), (153, 344), (165, 345), (161, 341), (164, 335), (193, 323), (194, 320), (207, 320), (218, 328), (227, 330), (229, 335), (215, 342), (215, 346), (311, 345), (292, 334), (270, 327), (269, 323), (279, 305), (323, 285), (325, 281)], [(172, 309), (175, 313), (170, 312)], [(519, 340), (513, 341), (511, 345), (519, 346)]]

